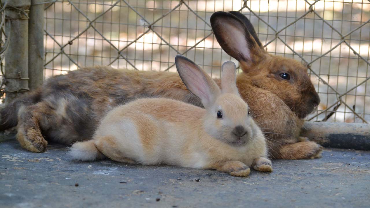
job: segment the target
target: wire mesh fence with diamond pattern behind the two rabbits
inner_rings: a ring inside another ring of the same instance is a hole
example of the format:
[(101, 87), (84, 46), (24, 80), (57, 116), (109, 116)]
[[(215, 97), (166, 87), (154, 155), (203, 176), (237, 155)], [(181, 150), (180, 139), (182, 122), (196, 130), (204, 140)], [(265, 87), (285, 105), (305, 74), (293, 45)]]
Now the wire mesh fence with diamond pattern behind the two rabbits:
[(308, 66), (321, 104), (307, 120), (370, 121), (369, 0), (54, 0), (45, 4), (44, 77), (92, 65), (176, 71), (176, 54), (219, 77), (224, 61), (238, 62), (209, 19), (230, 10), (248, 17), (269, 53)]

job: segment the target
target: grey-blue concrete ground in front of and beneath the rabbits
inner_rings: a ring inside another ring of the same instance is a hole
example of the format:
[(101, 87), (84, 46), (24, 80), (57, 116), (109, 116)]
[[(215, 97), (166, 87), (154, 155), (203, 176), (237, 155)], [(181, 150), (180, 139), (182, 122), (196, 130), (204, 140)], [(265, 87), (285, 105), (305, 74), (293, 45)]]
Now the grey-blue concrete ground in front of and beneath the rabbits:
[(370, 152), (326, 149), (247, 178), (214, 170), (74, 162), (51, 144), (0, 143), (0, 207), (369, 207)]

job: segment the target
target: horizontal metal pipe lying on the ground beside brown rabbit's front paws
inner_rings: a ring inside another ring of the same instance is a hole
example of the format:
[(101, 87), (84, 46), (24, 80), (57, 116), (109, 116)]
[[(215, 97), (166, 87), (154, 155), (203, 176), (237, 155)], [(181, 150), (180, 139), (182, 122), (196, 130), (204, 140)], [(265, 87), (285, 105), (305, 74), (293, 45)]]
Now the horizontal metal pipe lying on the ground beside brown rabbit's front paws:
[(370, 150), (370, 124), (306, 121), (301, 136), (323, 147)]

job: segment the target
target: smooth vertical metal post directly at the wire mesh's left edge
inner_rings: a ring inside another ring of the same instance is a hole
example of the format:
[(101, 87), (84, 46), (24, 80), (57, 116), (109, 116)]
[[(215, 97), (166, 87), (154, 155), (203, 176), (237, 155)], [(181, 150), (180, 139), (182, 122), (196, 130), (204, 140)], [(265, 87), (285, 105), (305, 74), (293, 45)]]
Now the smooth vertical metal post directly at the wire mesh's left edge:
[(44, 4), (31, 0), (28, 21), (28, 86), (35, 90), (44, 82)]

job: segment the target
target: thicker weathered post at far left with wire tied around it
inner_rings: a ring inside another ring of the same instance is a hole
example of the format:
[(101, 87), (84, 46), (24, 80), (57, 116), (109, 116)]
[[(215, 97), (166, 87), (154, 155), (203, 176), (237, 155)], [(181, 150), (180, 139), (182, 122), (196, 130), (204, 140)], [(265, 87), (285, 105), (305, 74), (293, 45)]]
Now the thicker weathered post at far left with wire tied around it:
[(5, 29), (10, 44), (5, 54), (5, 103), (28, 88), (28, 9), (30, 0), (8, 1)]

